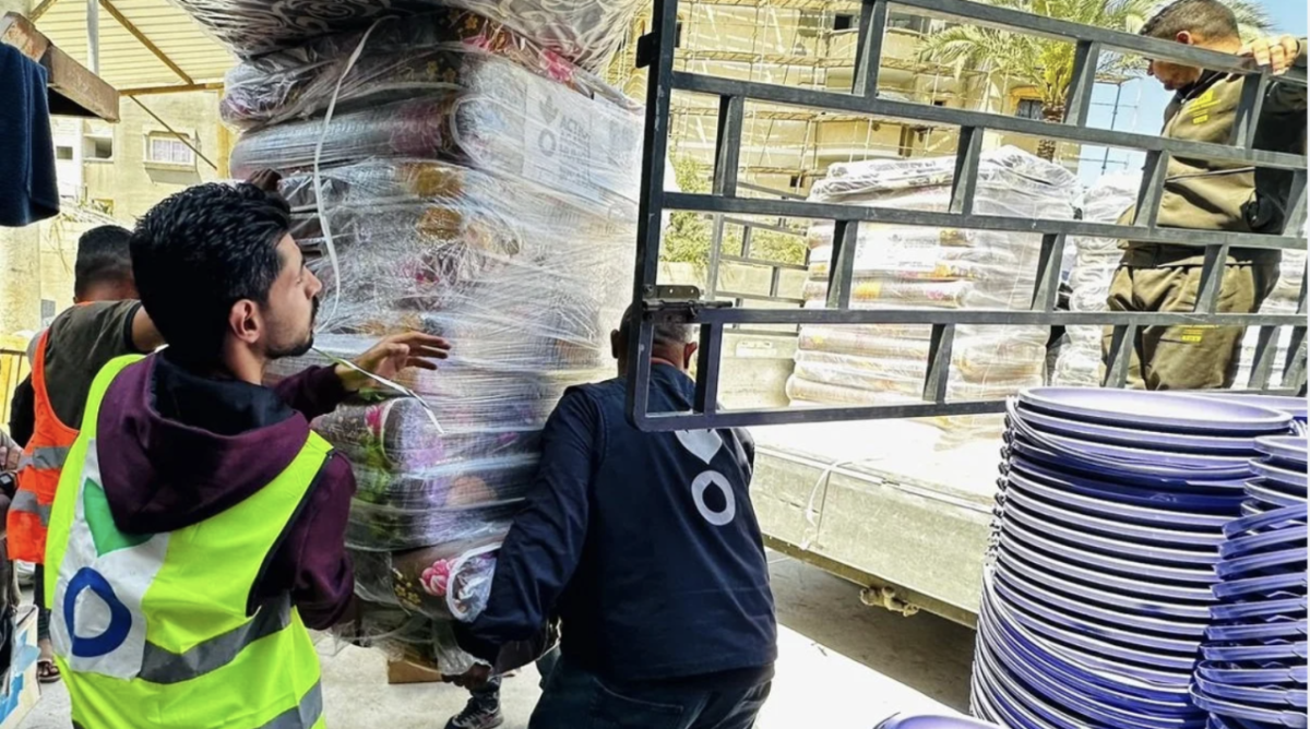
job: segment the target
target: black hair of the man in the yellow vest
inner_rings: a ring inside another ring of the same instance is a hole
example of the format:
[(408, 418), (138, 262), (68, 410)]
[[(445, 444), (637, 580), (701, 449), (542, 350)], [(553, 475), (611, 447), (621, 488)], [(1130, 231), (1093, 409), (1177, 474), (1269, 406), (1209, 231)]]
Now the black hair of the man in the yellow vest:
[(190, 187), (141, 217), (131, 240), (136, 289), (170, 356), (219, 363), (232, 305), (267, 302), (290, 229), (286, 200), (245, 183)]

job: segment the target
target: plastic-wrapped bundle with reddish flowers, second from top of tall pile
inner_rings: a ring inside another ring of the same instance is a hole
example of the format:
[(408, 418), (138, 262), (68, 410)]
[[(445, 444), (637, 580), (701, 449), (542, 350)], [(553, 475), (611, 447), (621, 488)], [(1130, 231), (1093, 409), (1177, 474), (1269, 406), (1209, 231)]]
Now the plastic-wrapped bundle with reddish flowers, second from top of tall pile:
[[(634, 105), (595, 75), (469, 10), (441, 8), (414, 18), (381, 21), (351, 67), (363, 33), (328, 35), (242, 62), (228, 73), (223, 120), (249, 128), (321, 114), (333, 96), (337, 110), (498, 84), (490, 59), (512, 62), (544, 79), (621, 107)], [(346, 73), (345, 80), (342, 75)], [(337, 84), (341, 81), (341, 92)]]

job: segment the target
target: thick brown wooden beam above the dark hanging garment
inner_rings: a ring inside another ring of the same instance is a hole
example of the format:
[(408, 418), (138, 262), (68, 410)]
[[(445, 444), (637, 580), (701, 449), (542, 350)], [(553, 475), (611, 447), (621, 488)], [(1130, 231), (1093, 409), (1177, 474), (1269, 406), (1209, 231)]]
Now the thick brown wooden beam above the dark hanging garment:
[(68, 54), (18, 13), (0, 16), (0, 43), (46, 67), (50, 113), (118, 120), (118, 92)]

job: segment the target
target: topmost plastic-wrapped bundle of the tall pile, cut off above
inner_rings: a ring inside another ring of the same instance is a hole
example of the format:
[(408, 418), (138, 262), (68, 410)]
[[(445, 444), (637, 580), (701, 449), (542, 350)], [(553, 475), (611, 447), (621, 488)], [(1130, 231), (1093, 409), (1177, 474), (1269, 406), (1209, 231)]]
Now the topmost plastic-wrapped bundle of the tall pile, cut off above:
[(583, 68), (603, 69), (637, 12), (635, 0), (173, 0), (241, 56), (363, 30), (379, 18), (453, 7), (486, 16)]

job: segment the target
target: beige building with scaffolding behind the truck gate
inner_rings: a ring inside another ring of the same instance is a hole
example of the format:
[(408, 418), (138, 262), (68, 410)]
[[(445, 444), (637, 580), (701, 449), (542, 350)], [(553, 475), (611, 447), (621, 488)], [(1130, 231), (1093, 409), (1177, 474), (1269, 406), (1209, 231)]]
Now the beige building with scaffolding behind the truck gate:
[[(859, 5), (825, 0), (684, 0), (679, 8), (680, 71), (849, 92), (854, 77)], [(631, 72), (635, 39), (650, 27), (641, 17), (616, 60), (610, 80), (645, 98), (646, 73)], [(1032, 89), (1003, 77), (943, 68), (921, 58), (922, 39), (943, 21), (892, 13), (883, 44), (879, 94), (916, 103), (1039, 118)], [(709, 174), (714, 160), (718, 99), (676, 93), (671, 156), (692, 157)], [(741, 181), (804, 194), (833, 162), (875, 157), (937, 156), (955, 152), (951, 128), (875, 120), (855, 114), (752, 103), (745, 109)], [(1038, 139), (988, 135), (986, 148), (1014, 144), (1035, 152)], [(1076, 149), (1061, 149), (1074, 164)]]

